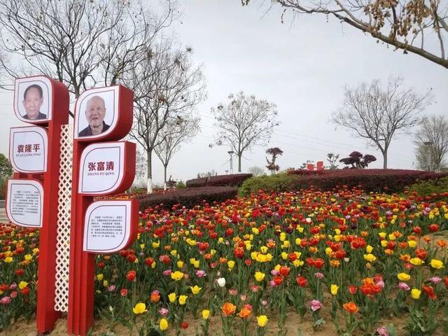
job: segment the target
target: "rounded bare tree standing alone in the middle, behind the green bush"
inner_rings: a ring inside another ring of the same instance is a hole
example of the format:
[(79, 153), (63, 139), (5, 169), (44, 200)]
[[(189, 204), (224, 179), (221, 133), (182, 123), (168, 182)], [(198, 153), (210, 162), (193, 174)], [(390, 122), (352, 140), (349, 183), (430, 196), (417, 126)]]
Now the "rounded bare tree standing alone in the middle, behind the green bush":
[(219, 104), (211, 109), (218, 128), (216, 144), (230, 146), (238, 156), (238, 172), (241, 172), (241, 156), (255, 145), (264, 146), (269, 141), (276, 122), (276, 105), (267, 100), (246, 96), (244, 92), (230, 94), (228, 105)]

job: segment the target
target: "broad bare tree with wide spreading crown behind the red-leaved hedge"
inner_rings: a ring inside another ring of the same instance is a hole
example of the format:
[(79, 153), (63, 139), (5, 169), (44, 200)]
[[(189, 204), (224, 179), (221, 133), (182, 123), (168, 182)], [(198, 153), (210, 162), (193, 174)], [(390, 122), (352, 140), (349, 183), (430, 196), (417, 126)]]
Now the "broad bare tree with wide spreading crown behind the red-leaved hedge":
[(387, 152), (392, 139), (407, 132), (420, 122), (419, 113), (430, 104), (430, 92), (417, 94), (412, 88), (403, 88), (401, 78), (389, 78), (387, 86), (379, 80), (345, 88), (345, 97), (332, 122), (368, 139), (383, 155), (387, 168)]

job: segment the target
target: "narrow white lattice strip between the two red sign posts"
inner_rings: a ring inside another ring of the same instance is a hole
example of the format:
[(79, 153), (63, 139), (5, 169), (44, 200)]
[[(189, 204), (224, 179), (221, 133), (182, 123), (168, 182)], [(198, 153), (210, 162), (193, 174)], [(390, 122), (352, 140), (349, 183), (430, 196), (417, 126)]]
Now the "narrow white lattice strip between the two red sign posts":
[(69, 257), (71, 210), (71, 159), (73, 156), (73, 126), (62, 125), (57, 204), (57, 251), (55, 310), (69, 307)]

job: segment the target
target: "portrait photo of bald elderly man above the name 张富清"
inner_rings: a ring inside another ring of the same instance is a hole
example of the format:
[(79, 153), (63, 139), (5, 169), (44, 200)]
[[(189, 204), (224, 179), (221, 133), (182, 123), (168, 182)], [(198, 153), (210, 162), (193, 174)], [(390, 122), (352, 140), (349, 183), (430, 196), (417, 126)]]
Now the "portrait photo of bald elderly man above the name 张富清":
[(114, 92), (88, 94), (77, 108), (78, 137), (95, 137), (111, 127), (114, 111)]

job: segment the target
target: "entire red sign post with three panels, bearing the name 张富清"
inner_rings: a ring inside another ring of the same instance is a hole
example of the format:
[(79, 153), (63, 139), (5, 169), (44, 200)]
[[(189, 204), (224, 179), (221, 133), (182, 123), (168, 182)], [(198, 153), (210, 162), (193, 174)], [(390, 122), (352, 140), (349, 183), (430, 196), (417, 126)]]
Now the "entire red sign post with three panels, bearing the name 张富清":
[(137, 200), (93, 202), (94, 195), (123, 193), (134, 181), (135, 144), (116, 141), (132, 127), (132, 106), (133, 93), (123, 86), (87, 90), (76, 102), (69, 334), (86, 335), (93, 325), (95, 255), (126, 248), (137, 237)]

